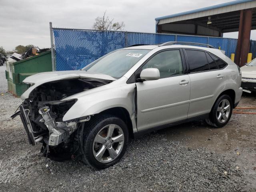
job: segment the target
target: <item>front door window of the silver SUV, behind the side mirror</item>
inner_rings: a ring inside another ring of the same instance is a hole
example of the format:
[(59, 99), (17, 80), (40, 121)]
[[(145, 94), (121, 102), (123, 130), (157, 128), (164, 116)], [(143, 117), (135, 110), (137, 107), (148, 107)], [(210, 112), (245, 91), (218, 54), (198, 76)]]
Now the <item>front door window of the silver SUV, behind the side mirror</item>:
[(180, 50), (167, 50), (156, 54), (142, 69), (157, 68), (160, 77), (169, 77), (183, 73)]

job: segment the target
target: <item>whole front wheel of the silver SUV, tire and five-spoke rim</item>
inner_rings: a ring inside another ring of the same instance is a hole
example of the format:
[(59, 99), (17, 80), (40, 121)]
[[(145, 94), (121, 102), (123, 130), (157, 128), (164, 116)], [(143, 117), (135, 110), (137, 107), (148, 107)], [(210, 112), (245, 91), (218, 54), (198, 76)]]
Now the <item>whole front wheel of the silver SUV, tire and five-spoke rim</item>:
[(126, 124), (116, 116), (102, 115), (85, 124), (83, 162), (97, 169), (118, 162), (128, 143)]

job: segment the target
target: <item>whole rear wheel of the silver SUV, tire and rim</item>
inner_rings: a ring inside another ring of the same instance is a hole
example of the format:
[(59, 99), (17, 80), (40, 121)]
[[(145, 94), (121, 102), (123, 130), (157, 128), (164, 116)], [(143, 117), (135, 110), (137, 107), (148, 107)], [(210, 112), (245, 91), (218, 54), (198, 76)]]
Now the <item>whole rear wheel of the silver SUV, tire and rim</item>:
[(206, 123), (217, 128), (225, 126), (230, 120), (232, 109), (233, 105), (230, 96), (220, 96), (214, 103)]

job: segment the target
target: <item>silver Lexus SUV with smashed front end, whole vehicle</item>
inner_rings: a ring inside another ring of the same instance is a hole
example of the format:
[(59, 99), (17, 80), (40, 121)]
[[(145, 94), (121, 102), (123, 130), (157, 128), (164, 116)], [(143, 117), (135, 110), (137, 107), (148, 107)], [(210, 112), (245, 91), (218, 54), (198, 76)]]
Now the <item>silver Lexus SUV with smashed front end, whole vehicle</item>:
[[(191, 46), (196, 45), (196, 46)], [(241, 98), (240, 68), (205, 44), (167, 42), (106, 54), (77, 71), (26, 78), (18, 114), (30, 144), (54, 160), (106, 168), (130, 137), (206, 120), (223, 127)]]

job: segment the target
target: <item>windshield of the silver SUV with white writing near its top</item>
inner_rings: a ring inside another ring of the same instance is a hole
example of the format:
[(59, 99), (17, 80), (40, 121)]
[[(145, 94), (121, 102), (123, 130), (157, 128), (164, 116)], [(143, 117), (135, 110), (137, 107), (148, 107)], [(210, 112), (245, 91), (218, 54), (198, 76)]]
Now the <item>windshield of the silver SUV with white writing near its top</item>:
[(92, 62), (82, 70), (106, 74), (116, 79), (122, 77), (150, 50), (126, 49), (117, 50)]

